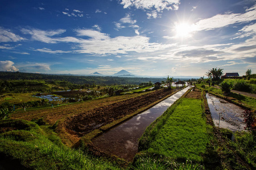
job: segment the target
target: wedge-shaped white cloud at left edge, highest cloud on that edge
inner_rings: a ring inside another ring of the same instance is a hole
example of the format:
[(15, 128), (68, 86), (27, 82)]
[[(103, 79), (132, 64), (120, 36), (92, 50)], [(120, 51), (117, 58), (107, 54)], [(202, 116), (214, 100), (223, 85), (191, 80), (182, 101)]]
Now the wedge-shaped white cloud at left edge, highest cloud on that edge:
[(0, 42), (17, 42), (22, 40), (26, 39), (15, 35), (15, 33), (11, 32), (9, 29), (4, 29), (0, 27)]

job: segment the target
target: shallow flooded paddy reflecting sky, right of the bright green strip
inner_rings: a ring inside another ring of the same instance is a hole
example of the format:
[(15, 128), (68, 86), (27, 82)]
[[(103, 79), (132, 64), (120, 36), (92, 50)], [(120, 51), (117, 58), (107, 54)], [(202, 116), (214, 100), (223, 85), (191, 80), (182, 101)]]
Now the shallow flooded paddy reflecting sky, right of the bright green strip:
[(245, 129), (244, 110), (242, 108), (210, 94), (207, 94), (206, 97), (215, 126), (233, 132)]

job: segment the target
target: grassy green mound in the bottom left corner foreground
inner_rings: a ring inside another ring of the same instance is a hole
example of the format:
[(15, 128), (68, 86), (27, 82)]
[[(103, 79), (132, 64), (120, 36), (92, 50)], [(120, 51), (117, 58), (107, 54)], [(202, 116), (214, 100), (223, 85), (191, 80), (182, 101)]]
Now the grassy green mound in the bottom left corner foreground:
[[(121, 169), (82, 150), (64, 146), (47, 126), (24, 120), (1, 121), (0, 127), (12, 129), (0, 134), (0, 152), (20, 160), (32, 169)], [(15, 130), (14, 130), (15, 129)]]

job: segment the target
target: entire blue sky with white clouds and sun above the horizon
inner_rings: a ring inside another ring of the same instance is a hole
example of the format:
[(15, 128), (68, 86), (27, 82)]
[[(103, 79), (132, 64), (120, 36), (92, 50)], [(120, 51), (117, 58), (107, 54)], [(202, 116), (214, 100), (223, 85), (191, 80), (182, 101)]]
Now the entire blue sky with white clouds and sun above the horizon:
[(255, 0), (0, 0), (0, 71), (256, 73)]

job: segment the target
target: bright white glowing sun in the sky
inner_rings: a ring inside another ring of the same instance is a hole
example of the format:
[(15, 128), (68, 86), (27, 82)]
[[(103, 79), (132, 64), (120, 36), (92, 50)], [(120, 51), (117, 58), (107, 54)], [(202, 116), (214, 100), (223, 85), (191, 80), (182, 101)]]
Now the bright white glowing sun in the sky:
[(191, 37), (192, 25), (188, 23), (177, 23), (175, 25), (176, 37)]

